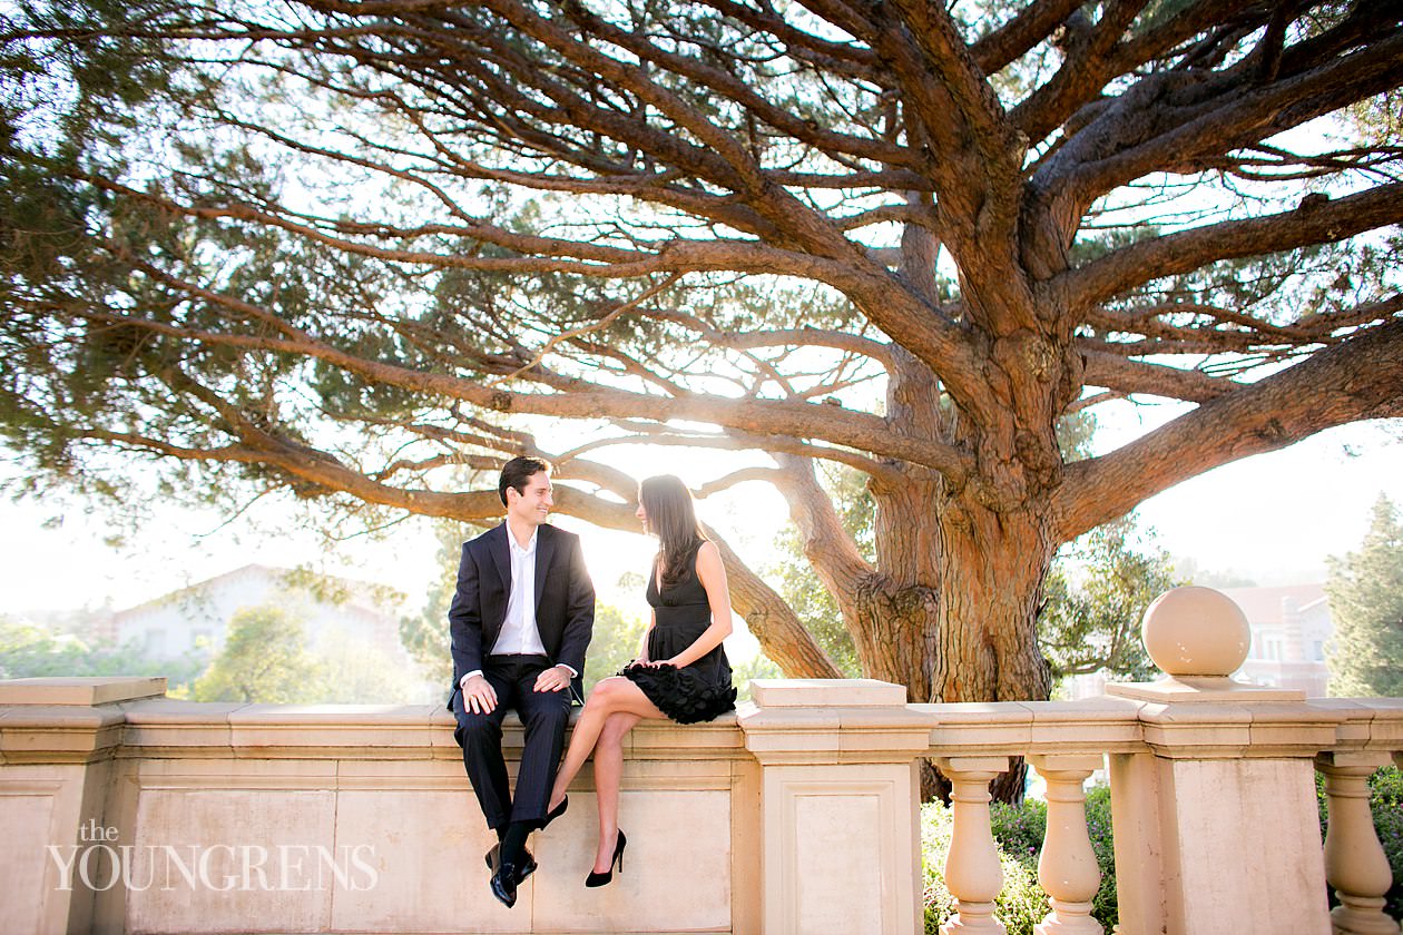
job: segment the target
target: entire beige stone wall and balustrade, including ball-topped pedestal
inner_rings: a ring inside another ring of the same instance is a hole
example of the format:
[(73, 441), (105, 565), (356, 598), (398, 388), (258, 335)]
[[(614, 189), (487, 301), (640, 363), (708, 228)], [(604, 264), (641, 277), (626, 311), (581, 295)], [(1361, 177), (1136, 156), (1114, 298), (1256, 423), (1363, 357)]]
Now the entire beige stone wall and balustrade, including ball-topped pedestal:
[[(1397, 932), (1364, 784), (1403, 751), (1403, 699), (1232, 683), (1236, 608), (1204, 590), (1170, 592), (1146, 620), (1166, 678), (1103, 698), (922, 705), (868, 680), (758, 681), (734, 716), (643, 723), (626, 751), (624, 872), (582, 886), (586, 770), (570, 812), (533, 835), (540, 869), (512, 910), (487, 890), (492, 838), (438, 707), (0, 683), (0, 931), (912, 935), (926, 756), (953, 782), (950, 935), (1003, 931), (988, 789), (1012, 757), (1047, 781), (1041, 935), (1100, 931), (1083, 795), (1100, 768), (1122, 935)], [(509, 758), (519, 740), (509, 726)]]

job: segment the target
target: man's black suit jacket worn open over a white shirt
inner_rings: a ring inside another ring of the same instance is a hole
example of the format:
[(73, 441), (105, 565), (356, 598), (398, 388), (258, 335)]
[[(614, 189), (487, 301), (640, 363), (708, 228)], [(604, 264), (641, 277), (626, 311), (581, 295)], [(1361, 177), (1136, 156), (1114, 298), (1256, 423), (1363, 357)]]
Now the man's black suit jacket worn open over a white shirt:
[[(463, 542), (457, 590), (448, 610), (453, 641), (453, 685), (483, 667), (506, 620), (512, 590), (512, 557), (506, 524)], [(536, 628), (551, 664), (585, 671), (585, 649), (595, 627), (595, 586), (585, 569), (579, 537), (554, 526), (536, 527)], [(582, 692), (577, 676), (575, 697)], [(449, 705), (453, 697), (449, 692)]]

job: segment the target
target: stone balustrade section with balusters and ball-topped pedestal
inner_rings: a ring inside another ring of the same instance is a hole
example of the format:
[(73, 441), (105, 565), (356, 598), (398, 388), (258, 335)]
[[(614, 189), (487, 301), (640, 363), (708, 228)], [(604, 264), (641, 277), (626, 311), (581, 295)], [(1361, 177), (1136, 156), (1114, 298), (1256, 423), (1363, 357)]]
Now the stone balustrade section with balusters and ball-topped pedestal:
[[(1365, 781), (1403, 757), (1403, 699), (1306, 701), (1236, 683), (1247, 641), (1230, 600), (1181, 587), (1146, 611), (1160, 681), (1080, 702), (908, 705), (934, 722), (929, 754), (955, 785), (946, 885), (960, 913), (944, 931), (1003, 931), (991, 914), (1000, 871), (985, 789), (1024, 756), (1048, 782), (1038, 880), (1052, 911), (1040, 935), (1101, 931), (1089, 917), (1100, 873), (1082, 785), (1103, 757), (1122, 935), (1396, 935)], [(1313, 770), (1329, 798), (1323, 852)], [(1341, 903), (1333, 913), (1327, 882)]]

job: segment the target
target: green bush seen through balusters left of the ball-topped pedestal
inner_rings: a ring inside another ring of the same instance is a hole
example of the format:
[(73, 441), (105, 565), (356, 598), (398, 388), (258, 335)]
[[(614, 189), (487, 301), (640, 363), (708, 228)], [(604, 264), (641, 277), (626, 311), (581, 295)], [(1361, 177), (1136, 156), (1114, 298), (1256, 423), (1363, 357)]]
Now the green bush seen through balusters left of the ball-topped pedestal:
[[(989, 809), (993, 840), (1003, 868), (1003, 892), (995, 914), (1009, 935), (1033, 935), (1033, 927), (1048, 914), (1047, 893), (1038, 885), (1038, 855), (1047, 831), (1047, 803), (1028, 799), (1023, 805), (995, 803)], [(1086, 827), (1101, 869), (1101, 887), (1092, 901), (1092, 915), (1110, 932), (1118, 920), (1115, 903), (1115, 854), (1111, 844), (1111, 791), (1094, 786), (1086, 793)], [(922, 806), (920, 847), (923, 862), (923, 906), (926, 935), (955, 913), (955, 900), (946, 890), (944, 866), (953, 831), (951, 812), (932, 802)]]

